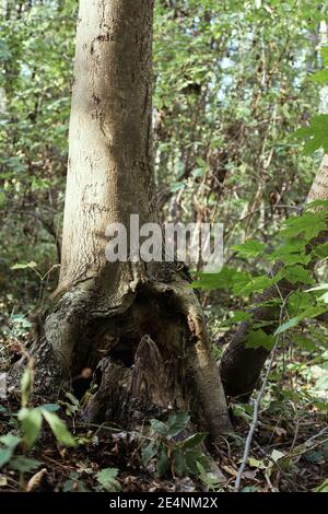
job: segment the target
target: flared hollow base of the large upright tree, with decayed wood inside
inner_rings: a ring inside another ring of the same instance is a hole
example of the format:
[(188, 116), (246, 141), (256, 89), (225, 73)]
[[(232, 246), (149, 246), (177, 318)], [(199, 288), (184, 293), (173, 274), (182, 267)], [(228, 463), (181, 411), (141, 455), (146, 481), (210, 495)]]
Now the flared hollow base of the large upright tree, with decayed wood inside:
[[(180, 278), (139, 281), (115, 305), (95, 284), (79, 284), (44, 328), (33, 348), (38, 394), (58, 395), (91, 367), (96, 393), (84, 412), (91, 421), (131, 429), (185, 410), (216, 441), (232, 431), (201, 307)], [(17, 366), (11, 376), (16, 373)]]

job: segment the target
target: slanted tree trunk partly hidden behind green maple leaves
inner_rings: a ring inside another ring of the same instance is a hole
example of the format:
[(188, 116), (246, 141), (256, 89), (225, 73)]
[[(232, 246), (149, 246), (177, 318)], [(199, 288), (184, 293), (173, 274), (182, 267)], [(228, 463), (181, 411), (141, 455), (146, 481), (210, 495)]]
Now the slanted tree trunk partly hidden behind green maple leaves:
[[(307, 196), (307, 202), (314, 200), (328, 199), (328, 156), (325, 155), (320, 168), (314, 179), (311, 190)], [(273, 266), (271, 274), (276, 274), (280, 269), (280, 264)], [(273, 285), (259, 294), (256, 303), (276, 299), (279, 296), (279, 291), (282, 297), (295, 288), (295, 285), (286, 282), (285, 280), (278, 283), (279, 289)], [(267, 334), (272, 335), (278, 328), (279, 313), (272, 306), (258, 306), (251, 312), (255, 322), (271, 322), (263, 327)], [(230, 343), (222, 355), (220, 363), (220, 375), (223, 383), (225, 394), (233, 397), (238, 397), (241, 400), (248, 400), (254, 388), (257, 385), (260, 372), (269, 355), (269, 351), (263, 347), (256, 349), (246, 348), (245, 341), (251, 324), (249, 322), (241, 323), (235, 332), (232, 334)]]

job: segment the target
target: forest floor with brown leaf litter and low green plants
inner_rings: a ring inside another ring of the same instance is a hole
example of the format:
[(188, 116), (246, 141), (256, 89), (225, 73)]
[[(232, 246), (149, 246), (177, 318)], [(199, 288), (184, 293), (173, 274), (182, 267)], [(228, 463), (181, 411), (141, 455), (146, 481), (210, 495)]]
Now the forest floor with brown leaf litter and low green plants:
[[(4, 355), (3, 350), (8, 342), (3, 341), (1, 348), (0, 372), (8, 366), (8, 354)], [(297, 361), (285, 370), (283, 378), (277, 373), (279, 362), (270, 375), (243, 475), (244, 492), (328, 489), (327, 397), (324, 401), (320, 396), (313, 396), (315, 378), (308, 374), (308, 367), (306, 373), (303, 371), (302, 353), (296, 357)], [(45, 402), (43, 398), (33, 399), (34, 407)], [(4, 443), (8, 434), (20, 435), (21, 400), (14, 396), (0, 400), (1, 492), (230, 492), (234, 489), (251, 422), (251, 405), (230, 404), (235, 432), (222, 436), (222, 443), (210, 449), (222, 475), (198, 472), (178, 477), (171, 466), (159, 478), (160, 457), (147, 464), (143, 458), (144, 433), (127, 432), (113, 424), (85, 423), (80, 402), (70, 394), (58, 404), (58, 413), (78, 445), (58, 445), (49, 428), (44, 427), (28, 453), (22, 452), (22, 444), (16, 447), (15, 454), (20, 453), (17, 448), (22, 453), (17, 465), (15, 460), (5, 459)], [(173, 439), (171, 451), (174, 444)]]

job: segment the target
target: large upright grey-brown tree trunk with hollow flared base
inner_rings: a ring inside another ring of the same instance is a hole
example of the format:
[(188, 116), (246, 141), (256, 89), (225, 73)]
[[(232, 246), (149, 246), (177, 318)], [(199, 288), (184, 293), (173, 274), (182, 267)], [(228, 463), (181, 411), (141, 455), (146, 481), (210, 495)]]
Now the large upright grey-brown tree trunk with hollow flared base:
[(105, 229), (157, 222), (152, 163), (153, 0), (81, 0), (62, 265), (35, 342), (36, 387), (84, 367), (85, 416), (125, 427), (184, 409), (214, 439), (231, 429), (197, 296), (176, 265), (105, 258)]

